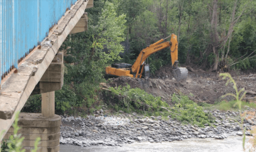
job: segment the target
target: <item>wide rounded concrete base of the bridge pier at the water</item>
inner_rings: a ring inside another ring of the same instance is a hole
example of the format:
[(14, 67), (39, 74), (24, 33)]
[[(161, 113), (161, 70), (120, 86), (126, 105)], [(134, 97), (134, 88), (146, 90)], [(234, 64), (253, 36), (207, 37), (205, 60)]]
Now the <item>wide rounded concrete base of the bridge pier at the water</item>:
[[(40, 143), (37, 151), (59, 151), (59, 135), (60, 135), (61, 117), (54, 115), (51, 118), (45, 118), (41, 114), (20, 113), (18, 126), (22, 127), (18, 130), (18, 134), (24, 137), (22, 146), (26, 152), (34, 148), (37, 137), (40, 137)], [(4, 139), (9, 139), (13, 135), (13, 127), (11, 126), (6, 133)]]

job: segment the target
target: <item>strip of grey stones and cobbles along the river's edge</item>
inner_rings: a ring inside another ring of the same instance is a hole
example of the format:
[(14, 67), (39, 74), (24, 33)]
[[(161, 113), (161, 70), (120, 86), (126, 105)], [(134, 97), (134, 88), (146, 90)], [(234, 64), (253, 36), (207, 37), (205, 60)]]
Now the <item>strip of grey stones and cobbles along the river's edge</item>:
[[(255, 112), (247, 107), (247, 111)], [(97, 111), (95, 116), (74, 118), (61, 116), (60, 143), (78, 146), (121, 146), (135, 142), (163, 142), (184, 140), (188, 138), (224, 139), (229, 136), (242, 136), (239, 112), (204, 111), (211, 113), (214, 124), (184, 125), (172, 118), (144, 117), (136, 113), (127, 114), (119, 111), (115, 116)], [(245, 133), (251, 136), (250, 130), (256, 125), (254, 117), (244, 121)]]

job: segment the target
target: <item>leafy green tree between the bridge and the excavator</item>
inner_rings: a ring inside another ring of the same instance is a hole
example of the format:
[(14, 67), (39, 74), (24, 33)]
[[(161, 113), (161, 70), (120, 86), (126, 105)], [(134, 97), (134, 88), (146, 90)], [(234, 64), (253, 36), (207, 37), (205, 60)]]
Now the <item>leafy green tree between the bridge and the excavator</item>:
[[(125, 15), (117, 16), (113, 3), (99, 1), (99, 7), (103, 8), (91, 13), (100, 13), (94, 25), (93, 17), (89, 14), (88, 31), (72, 34), (63, 43), (62, 49), (68, 49), (69, 56), (65, 58), (67, 62), (72, 59), (74, 66), (66, 64), (65, 85), (63, 90), (56, 93), (56, 101), (60, 106), (60, 111), (65, 111), (71, 107), (82, 107), (83, 112), (89, 112), (90, 108), (98, 103), (97, 90), (99, 83), (104, 81), (103, 75), (105, 67), (115, 60), (120, 60), (119, 53), (123, 51), (120, 44), (124, 40)], [(63, 100), (63, 96), (68, 94), (69, 102)], [(99, 103), (98, 103), (99, 104)]]

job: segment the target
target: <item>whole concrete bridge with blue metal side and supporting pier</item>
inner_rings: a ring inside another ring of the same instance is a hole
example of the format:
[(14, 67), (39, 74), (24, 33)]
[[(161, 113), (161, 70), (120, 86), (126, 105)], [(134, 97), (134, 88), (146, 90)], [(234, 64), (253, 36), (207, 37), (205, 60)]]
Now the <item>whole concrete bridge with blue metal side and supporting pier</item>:
[(59, 151), (61, 119), (54, 113), (54, 93), (63, 85), (62, 42), (87, 30), (86, 9), (93, 0), (0, 0), (0, 137), (8, 138), (15, 113), (37, 86), (41, 114), (20, 114), (23, 146), (30, 151), (41, 137), (41, 151)]

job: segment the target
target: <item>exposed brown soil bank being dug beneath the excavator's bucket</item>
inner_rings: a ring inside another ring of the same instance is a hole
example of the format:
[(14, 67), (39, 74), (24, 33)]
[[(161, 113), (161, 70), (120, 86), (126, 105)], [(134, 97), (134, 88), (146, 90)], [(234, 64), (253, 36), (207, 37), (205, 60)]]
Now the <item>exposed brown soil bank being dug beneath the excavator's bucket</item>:
[[(244, 72), (230, 72), (236, 81), (238, 89), (245, 88), (250, 91), (246, 94), (247, 101), (256, 100), (256, 74)], [(170, 67), (162, 67), (156, 72), (154, 78), (135, 79), (131, 77), (112, 78), (110, 86), (125, 86), (126, 83), (131, 88), (140, 88), (154, 96), (162, 97), (166, 102), (171, 101), (173, 93), (187, 95), (191, 100), (196, 102), (215, 103), (223, 100), (222, 95), (226, 93), (235, 93), (231, 84), (225, 86), (226, 80), (223, 80), (218, 73), (207, 72), (188, 72), (188, 78), (183, 82), (176, 82), (173, 79)], [(232, 97), (227, 97), (230, 100)]]

